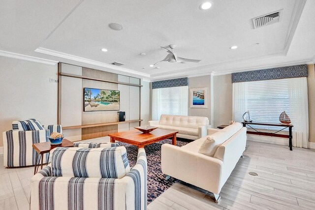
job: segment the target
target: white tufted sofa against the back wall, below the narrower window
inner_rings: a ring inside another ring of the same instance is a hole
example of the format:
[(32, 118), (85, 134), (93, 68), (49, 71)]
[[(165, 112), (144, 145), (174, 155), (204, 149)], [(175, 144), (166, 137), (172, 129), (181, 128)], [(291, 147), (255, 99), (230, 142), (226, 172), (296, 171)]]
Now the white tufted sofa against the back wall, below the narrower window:
[(196, 140), (207, 135), (207, 128), (210, 127), (206, 117), (161, 115), (159, 120), (149, 121), (149, 125), (157, 126), (165, 130), (178, 131), (179, 138)]

